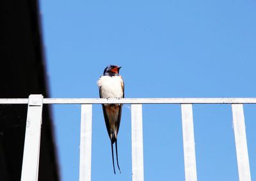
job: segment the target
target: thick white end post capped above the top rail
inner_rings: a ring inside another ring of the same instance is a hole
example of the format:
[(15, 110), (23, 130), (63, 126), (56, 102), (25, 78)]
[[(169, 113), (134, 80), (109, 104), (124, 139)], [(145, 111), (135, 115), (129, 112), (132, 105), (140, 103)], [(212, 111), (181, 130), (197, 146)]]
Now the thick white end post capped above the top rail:
[(21, 181), (38, 180), (42, 108), (43, 96), (29, 95)]

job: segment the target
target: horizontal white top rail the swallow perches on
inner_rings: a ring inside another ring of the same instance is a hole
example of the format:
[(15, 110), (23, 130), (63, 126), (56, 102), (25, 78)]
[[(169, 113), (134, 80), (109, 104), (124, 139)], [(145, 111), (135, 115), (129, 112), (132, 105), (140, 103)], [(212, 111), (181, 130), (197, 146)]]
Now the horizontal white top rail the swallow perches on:
[[(28, 104), (28, 98), (0, 98), (0, 104)], [(44, 98), (43, 104), (256, 104), (256, 98)]]

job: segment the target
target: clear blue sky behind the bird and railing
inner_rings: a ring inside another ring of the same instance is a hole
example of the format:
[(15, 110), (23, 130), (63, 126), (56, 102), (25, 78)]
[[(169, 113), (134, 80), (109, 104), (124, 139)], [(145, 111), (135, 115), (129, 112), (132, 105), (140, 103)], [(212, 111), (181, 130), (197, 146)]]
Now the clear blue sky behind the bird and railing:
[[(97, 98), (109, 64), (125, 97), (256, 97), (256, 3), (40, 1), (51, 97)], [(229, 105), (195, 105), (198, 180), (238, 180)], [(113, 173), (100, 105), (93, 106), (92, 180), (131, 180), (131, 114), (124, 106)], [(244, 106), (256, 180), (256, 105)], [(53, 106), (63, 181), (79, 178), (80, 106)], [(145, 180), (184, 180), (179, 105), (143, 106)]]

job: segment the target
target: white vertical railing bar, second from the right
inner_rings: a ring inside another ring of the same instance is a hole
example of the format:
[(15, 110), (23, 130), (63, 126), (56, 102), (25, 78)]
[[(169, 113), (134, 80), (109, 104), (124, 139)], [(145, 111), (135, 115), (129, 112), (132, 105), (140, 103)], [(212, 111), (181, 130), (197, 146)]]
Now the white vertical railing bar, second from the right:
[(196, 153), (192, 104), (181, 104), (186, 181), (196, 181)]

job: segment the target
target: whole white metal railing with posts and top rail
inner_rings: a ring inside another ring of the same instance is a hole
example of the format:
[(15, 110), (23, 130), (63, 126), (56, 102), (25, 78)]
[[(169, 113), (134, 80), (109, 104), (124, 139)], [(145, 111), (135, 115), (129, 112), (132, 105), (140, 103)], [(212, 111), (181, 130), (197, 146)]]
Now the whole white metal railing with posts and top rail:
[(193, 104), (231, 104), (237, 166), (240, 181), (250, 181), (243, 104), (256, 104), (256, 98), (0, 98), (0, 104), (28, 104), (26, 136), (22, 162), (22, 181), (38, 180), (40, 134), (43, 104), (81, 104), (79, 180), (91, 180), (92, 104), (131, 104), (132, 181), (144, 180), (142, 104), (180, 104), (186, 181), (196, 181), (196, 155), (193, 129)]

